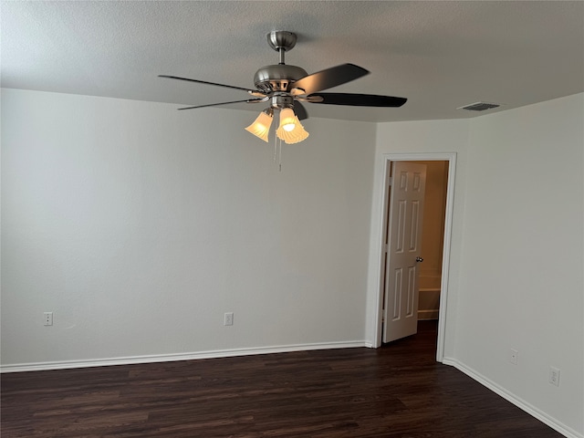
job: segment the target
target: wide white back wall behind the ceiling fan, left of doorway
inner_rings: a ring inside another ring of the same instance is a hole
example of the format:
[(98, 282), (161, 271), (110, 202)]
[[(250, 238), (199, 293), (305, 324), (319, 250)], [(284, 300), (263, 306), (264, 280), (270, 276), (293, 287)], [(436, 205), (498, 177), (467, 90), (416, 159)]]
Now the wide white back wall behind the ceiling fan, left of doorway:
[(374, 125), (175, 109), (2, 90), (5, 367), (364, 342)]

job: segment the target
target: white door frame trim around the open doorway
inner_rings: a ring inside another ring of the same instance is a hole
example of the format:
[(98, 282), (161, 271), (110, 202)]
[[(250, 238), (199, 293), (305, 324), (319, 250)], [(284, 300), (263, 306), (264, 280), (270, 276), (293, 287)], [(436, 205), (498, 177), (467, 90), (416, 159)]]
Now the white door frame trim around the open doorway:
[(385, 263), (383, 242), (387, 233), (388, 221), (388, 194), (391, 162), (448, 162), (448, 182), (446, 184), (446, 211), (444, 212), (444, 240), (442, 257), (442, 278), (440, 283), (440, 309), (438, 311), (438, 339), (436, 348), (436, 360), (443, 361), (444, 339), (446, 335), (446, 311), (448, 303), (448, 286), (450, 272), (450, 245), (452, 239), (452, 225), (454, 212), (454, 177), (456, 173), (456, 152), (420, 152), (420, 153), (384, 153), (383, 154), (383, 178), (381, 187), (381, 230), (379, 233), (379, 254), (377, 256), (378, 287), (377, 300), (375, 302), (375, 330), (373, 346), (381, 347), (382, 339), (382, 314)]

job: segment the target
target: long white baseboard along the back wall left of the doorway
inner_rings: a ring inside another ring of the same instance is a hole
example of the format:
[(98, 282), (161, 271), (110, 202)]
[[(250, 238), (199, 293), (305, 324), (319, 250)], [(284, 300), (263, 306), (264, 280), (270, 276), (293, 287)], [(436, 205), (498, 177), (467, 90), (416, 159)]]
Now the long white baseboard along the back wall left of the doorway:
[(73, 368), (105, 367), (110, 365), (131, 365), (136, 363), (172, 362), (175, 360), (230, 358), (235, 356), (251, 356), (255, 354), (287, 353), (290, 351), (308, 351), (312, 349), (352, 349), (356, 347), (370, 347), (370, 343), (364, 340), (360, 340), (353, 342), (326, 342), (250, 349), (217, 349), (212, 351), (201, 351), (193, 353), (132, 356), (125, 358), (110, 358), (96, 360), (63, 360), (52, 362), (17, 363), (12, 365), (0, 366), (0, 373), (43, 370), (68, 370)]

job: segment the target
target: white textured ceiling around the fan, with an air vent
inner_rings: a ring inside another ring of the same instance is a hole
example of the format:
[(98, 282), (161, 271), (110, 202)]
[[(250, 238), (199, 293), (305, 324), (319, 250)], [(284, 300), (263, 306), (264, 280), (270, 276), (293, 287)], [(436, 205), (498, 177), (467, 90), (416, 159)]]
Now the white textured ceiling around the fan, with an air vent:
[[(253, 88), (255, 70), (277, 64), (266, 34), (280, 29), (298, 35), (287, 64), (371, 72), (328, 91), (408, 98), (399, 109), (307, 103), (314, 117), (464, 118), (584, 91), (582, 1), (2, 1), (0, 13), (5, 88), (183, 105), (246, 99), (157, 75)], [(505, 107), (456, 110), (477, 101)]]

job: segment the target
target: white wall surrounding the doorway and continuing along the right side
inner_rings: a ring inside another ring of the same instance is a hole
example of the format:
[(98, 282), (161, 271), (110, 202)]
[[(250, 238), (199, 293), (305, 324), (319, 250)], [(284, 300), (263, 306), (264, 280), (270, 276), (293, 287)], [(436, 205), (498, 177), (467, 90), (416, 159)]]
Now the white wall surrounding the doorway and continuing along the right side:
[(380, 124), (368, 295), (371, 332), (383, 154), (456, 151), (445, 362), (574, 437), (584, 436), (582, 120), (584, 94), (473, 120)]

